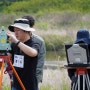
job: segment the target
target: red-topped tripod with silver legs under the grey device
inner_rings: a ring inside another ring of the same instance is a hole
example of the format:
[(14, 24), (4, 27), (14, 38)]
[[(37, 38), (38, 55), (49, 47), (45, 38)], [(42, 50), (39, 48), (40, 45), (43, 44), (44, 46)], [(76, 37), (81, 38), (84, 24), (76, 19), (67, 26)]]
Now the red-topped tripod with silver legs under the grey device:
[(80, 89), (80, 77), (83, 78), (83, 90), (85, 90), (85, 86), (87, 87), (87, 90), (90, 90), (90, 80), (87, 72), (87, 67), (83, 68), (77, 68), (76, 69), (76, 80), (72, 85), (72, 90), (81, 90)]

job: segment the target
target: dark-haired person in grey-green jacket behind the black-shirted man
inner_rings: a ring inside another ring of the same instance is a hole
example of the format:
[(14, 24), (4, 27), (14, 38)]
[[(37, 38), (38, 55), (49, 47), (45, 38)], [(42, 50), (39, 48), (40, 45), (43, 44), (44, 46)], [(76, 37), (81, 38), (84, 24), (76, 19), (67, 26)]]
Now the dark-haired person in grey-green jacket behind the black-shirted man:
[[(35, 25), (35, 19), (31, 15), (24, 15), (22, 18), (29, 20), (30, 27), (34, 27)], [(38, 53), (38, 62), (37, 62), (37, 68), (36, 68), (36, 77), (38, 81), (38, 90), (40, 90), (41, 83), (43, 81), (43, 69), (44, 69), (44, 61), (46, 56), (46, 47), (45, 47), (45, 41), (42, 37), (39, 35), (36, 35), (31, 32), (32, 40), (39, 43), (40, 45), (40, 51)]]

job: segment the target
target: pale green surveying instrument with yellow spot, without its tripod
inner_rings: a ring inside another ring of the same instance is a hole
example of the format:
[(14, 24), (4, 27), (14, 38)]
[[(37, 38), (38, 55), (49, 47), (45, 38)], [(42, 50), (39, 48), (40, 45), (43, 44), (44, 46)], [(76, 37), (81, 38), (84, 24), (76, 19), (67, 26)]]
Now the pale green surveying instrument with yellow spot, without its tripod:
[(8, 42), (8, 36), (4, 26), (0, 29), (0, 55), (6, 55), (11, 50), (10, 43)]

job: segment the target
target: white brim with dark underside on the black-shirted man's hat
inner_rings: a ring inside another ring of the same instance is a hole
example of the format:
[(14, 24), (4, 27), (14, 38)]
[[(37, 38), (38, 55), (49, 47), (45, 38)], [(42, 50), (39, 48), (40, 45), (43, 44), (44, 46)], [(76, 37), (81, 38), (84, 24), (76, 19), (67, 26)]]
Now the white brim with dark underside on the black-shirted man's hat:
[(14, 32), (14, 27), (17, 27), (19, 29), (22, 29), (24, 31), (35, 31), (35, 29), (31, 28), (28, 24), (21, 24), (21, 23), (15, 23), (13, 25), (10, 25), (8, 29), (12, 32)]

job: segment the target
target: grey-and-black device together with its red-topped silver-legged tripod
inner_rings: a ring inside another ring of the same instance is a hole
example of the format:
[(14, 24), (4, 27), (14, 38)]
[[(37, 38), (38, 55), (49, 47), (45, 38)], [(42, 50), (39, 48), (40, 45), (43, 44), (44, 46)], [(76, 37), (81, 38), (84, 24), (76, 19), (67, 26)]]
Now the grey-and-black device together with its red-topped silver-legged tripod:
[[(65, 45), (68, 65), (67, 69), (75, 69), (75, 79), (72, 83), (72, 90), (90, 90), (88, 70), (90, 69), (90, 57), (87, 44)], [(82, 78), (82, 82), (81, 82)], [(82, 83), (82, 86), (80, 86)], [(80, 88), (82, 87), (82, 89)]]

